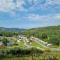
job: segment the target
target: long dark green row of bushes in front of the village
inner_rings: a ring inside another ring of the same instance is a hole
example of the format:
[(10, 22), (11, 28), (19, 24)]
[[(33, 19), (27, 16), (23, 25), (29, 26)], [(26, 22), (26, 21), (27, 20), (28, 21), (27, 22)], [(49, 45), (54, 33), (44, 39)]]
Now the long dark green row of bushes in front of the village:
[(25, 56), (25, 55), (31, 55), (31, 54), (42, 54), (42, 50), (38, 50), (36, 48), (31, 49), (21, 49), (18, 47), (12, 48), (12, 49), (1, 49), (0, 50), (0, 56)]

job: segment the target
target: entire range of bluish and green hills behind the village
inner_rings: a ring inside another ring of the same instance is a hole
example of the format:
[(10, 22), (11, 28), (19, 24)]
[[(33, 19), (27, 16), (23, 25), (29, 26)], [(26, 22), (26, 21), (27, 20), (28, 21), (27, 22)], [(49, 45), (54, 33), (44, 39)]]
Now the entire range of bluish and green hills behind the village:
[(49, 26), (32, 29), (3, 28), (0, 27), (0, 36), (17, 36), (23, 34), (26, 37), (34, 36), (48, 43), (60, 45), (60, 26)]

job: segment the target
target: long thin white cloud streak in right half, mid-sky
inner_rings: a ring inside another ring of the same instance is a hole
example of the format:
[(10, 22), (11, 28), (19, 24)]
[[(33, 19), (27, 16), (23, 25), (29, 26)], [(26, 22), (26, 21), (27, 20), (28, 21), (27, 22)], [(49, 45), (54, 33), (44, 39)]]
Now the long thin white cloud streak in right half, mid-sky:
[(60, 20), (60, 14), (54, 14), (54, 15), (37, 15), (37, 14), (29, 14), (28, 16), (24, 17), (30, 21), (51, 21), (51, 20)]

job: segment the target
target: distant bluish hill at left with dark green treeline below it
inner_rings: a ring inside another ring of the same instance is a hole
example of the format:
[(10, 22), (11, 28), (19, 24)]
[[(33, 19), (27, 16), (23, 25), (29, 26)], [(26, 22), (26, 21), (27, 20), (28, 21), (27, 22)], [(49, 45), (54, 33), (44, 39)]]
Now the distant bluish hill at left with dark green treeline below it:
[(12, 37), (21, 34), (25, 29), (18, 28), (3, 28), (0, 27), (0, 36)]

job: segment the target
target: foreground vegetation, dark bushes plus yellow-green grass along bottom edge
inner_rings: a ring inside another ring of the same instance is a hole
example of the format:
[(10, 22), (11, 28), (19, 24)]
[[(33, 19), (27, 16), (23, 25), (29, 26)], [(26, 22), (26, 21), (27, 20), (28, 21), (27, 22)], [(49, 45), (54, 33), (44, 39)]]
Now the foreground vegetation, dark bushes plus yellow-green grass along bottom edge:
[[(2, 49), (0, 50), (0, 60), (60, 60), (59, 54), (60, 52), (43, 52), (35, 48)], [(26, 59), (24, 57), (26, 57)]]

